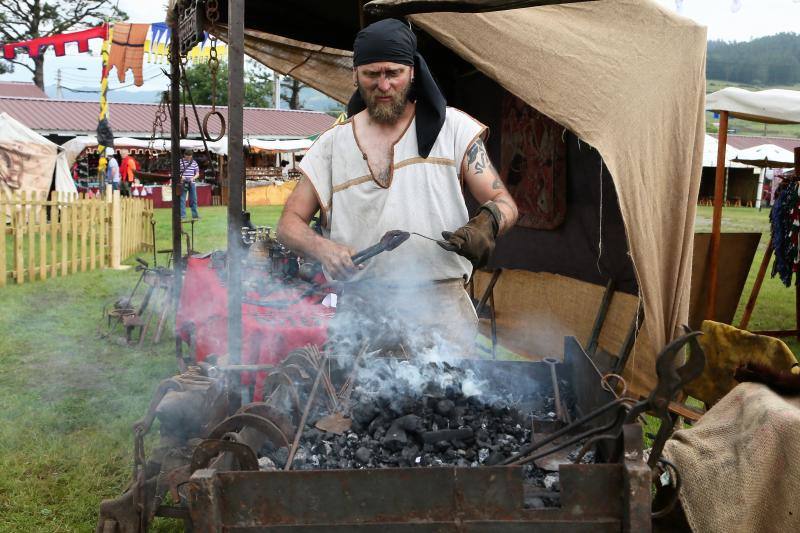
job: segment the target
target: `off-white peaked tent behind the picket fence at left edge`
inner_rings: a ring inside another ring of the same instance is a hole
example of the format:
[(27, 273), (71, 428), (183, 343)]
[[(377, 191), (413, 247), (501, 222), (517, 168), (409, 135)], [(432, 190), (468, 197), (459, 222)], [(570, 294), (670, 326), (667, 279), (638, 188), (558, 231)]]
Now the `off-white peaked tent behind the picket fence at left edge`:
[[(0, 191), (47, 193), (53, 183), (58, 145), (0, 113)], [(56, 190), (75, 192), (72, 179), (56, 179)]]

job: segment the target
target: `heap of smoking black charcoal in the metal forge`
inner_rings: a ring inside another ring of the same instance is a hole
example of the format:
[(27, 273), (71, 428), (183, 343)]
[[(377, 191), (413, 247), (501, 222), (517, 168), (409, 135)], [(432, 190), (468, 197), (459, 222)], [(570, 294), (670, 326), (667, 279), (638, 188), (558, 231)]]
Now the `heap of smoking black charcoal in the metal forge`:
[[(330, 414), (320, 403), (292, 469), (496, 465), (530, 442), (534, 418), (552, 415), (552, 400), (537, 390), (523, 397), (447, 363), (372, 360), (355, 383), (343, 407), (349, 428), (320, 429)], [(289, 450), (267, 445), (261, 456), (262, 468), (282, 469)], [(531, 478), (545, 477), (527, 470)]]

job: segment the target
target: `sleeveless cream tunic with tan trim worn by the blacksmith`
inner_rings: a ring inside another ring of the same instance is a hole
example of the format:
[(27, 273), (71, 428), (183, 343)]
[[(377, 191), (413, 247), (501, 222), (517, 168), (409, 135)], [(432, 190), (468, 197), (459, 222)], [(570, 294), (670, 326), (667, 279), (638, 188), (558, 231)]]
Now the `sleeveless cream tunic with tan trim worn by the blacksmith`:
[[(448, 107), (429, 156), (420, 157), (416, 120), (394, 145), (389, 184), (373, 178), (349, 120), (317, 139), (300, 162), (313, 184), (331, 240), (363, 250), (389, 230), (421, 233), (436, 239), (469, 220), (460, 177), (461, 163), (486, 126)], [(468, 279), (470, 262), (418, 236), (365, 263), (353, 281), (389, 284)]]

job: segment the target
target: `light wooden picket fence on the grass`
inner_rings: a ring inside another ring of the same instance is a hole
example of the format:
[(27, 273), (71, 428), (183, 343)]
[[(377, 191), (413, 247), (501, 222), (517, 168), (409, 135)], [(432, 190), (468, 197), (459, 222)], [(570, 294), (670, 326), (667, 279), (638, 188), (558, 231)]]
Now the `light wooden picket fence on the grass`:
[(77, 194), (0, 195), (0, 287), (67, 276), (106, 266), (152, 246), (153, 204)]

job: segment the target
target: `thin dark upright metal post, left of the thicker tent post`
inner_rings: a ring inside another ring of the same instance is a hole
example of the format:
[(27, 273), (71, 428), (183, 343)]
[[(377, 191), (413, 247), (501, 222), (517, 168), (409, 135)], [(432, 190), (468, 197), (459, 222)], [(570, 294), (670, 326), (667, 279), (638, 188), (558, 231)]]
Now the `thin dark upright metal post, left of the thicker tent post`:
[[(180, 91), (181, 91), (181, 54), (180, 54), (180, 32), (178, 30), (177, 16), (172, 24), (172, 41), (170, 42), (170, 100), (168, 110), (170, 112), (170, 172), (172, 173), (172, 256), (173, 269), (175, 275), (172, 285), (172, 297), (175, 301), (177, 315), (178, 302), (181, 301), (181, 285), (183, 261), (181, 260), (181, 206), (179, 202), (183, 198), (180, 194), (181, 185), (181, 129), (180, 129)], [(155, 243), (153, 243), (155, 246)], [(180, 335), (175, 335), (175, 357), (183, 357), (183, 341)]]

